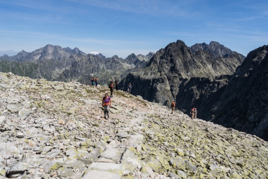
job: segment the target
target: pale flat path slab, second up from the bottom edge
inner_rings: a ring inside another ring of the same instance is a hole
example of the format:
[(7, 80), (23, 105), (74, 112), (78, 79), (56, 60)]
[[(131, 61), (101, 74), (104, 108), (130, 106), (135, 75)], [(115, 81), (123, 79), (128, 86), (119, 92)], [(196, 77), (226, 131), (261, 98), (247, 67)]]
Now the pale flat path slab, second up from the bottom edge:
[(94, 162), (89, 166), (88, 169), (89, 170), (99, 170), (99, 171), (105, 171), (105, 172), (112, 172), (112, 173), (118, 174), (120, 176), (127, 175), (127, 174), (131, 173), (131, 171), (125, 169), (125, 167), (122, 164), (114, 164), (114, 163)]

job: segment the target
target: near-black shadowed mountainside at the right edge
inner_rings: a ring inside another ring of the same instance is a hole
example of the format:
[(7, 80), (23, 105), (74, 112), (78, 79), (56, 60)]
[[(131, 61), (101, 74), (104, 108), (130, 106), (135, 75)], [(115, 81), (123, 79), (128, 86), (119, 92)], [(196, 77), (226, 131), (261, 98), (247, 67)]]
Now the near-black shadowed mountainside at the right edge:
[(268, 46), (247, 55), (210, 115), (213, 122), (268, 141)]

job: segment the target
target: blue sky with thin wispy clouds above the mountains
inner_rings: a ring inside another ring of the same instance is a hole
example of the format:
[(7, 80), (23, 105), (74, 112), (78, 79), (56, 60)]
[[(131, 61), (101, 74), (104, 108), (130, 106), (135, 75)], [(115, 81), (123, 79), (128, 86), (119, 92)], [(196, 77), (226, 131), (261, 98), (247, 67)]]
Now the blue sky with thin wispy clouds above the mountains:
[(268, 44), (268, 0), (0, 0), (0, 56), (52, 44), (125, 58), (178, 39), (247, 55)]

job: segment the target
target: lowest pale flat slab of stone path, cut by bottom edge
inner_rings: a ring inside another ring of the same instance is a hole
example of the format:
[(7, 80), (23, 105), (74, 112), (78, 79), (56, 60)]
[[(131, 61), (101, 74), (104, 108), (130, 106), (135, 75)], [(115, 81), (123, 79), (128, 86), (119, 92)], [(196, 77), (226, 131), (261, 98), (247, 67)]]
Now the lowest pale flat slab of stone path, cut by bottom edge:
[(81, 179), (121, 179), (121, 177), (111, 172), (89, 170)]

